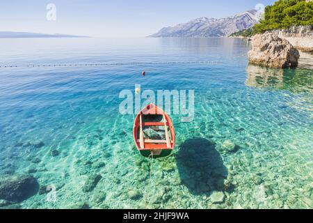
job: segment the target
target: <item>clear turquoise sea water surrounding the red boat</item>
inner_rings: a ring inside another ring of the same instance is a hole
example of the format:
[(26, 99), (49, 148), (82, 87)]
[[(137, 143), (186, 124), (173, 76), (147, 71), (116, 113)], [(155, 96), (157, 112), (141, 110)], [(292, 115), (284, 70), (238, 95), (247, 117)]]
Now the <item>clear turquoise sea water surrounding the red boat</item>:
[[(250, 46), (236, 39), (0, 41), (0, 174), (57, 190), (22, 208), (313, 208), (312, 69), (247, 66)], [(119, 64), (46, 67), (72, 63)], [(150, 180), (134, 115), (118, 112), (135, 84), (195, 90), (195, 119), (171, 115), (175, 155), (154, 160)], [(86, 191), (93, 174), (102, 179)]]

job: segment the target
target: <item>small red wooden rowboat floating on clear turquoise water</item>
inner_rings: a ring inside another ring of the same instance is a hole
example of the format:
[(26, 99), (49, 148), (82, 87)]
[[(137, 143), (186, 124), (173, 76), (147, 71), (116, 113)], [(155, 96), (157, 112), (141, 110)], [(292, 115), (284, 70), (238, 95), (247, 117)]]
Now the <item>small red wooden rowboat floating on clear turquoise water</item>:
[(170, 116), (157, 105), (147, 105), (134, 121), (134, 141), (145, 157), (166, 157), (175, 146), (175, 130)]

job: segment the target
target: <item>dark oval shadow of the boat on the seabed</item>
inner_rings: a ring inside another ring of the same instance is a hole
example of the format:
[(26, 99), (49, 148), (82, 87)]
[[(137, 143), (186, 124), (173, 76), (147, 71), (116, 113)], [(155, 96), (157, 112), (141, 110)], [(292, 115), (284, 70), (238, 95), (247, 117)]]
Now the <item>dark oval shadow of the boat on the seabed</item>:
[(187, 139), (179, 146), (177, 168), (182, 184), (192, 194), (230, 190), (225, 187), (228, 171), (216, 145), (203, 138)]

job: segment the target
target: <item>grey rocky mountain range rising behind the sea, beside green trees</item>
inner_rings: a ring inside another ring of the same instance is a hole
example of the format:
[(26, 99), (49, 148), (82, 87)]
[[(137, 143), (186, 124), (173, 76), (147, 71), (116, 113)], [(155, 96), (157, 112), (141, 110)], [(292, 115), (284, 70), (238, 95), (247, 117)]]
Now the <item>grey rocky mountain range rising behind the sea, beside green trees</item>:
[(190, 22), (165, 27), (149, 37), (225, 37), (259, 22), (257, 10), (222, 19), (200, 17)]

